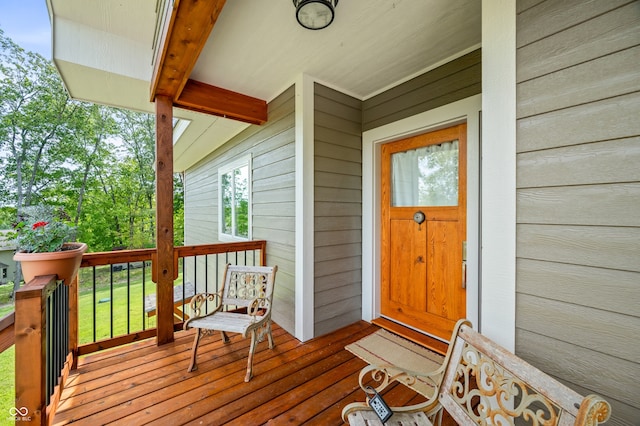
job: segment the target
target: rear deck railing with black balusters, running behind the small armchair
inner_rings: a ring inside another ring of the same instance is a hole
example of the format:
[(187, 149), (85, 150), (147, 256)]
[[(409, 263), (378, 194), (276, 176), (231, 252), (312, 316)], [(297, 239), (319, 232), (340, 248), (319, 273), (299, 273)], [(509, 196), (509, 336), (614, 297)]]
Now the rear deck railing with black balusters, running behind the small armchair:
[[(174, 329), (193, 293), (215, 292), (226, 263), (263, 265), (265, 241), (175, 247)], [(155, 249), (89, 253), (79, 273), (78, 355), (156, 335)]]

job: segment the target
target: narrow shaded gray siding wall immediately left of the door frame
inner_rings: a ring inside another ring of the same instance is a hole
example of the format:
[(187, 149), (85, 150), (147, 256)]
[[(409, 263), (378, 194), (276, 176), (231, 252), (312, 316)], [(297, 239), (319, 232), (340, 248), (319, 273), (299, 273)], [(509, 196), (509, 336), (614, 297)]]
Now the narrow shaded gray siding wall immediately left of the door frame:
[(361, 102), (315, 85), (314, 334), (361, 318)]

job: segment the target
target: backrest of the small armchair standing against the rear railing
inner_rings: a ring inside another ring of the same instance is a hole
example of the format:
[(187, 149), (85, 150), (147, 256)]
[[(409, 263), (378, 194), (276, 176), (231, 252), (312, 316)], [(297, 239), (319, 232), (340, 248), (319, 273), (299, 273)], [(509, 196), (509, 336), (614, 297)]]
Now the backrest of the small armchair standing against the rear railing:
[(269, 312), (277, 270), (277, 266), (227, 265), (222, 304), (244, 308), (260, 298), (260, 308)]

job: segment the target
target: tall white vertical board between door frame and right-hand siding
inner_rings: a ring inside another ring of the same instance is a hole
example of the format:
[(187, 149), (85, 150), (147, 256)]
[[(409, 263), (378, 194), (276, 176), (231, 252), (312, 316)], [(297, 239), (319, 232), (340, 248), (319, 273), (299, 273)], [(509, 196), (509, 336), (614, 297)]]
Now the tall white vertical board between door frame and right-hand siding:
[(482, 2), (480, 331), (512, 351), (516, 324), (516, 6)]

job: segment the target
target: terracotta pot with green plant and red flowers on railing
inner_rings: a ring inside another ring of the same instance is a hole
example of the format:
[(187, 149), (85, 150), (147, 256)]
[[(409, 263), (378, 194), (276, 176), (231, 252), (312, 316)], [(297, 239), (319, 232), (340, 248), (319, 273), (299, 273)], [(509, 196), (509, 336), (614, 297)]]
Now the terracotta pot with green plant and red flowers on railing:
[(67, 225), (61, 212), (45, 206), (26, 208), (15, 225), (18, 249), (13, 260), (20, 262), (25, 282), (40, 275), (57, 275), (69, 284), (78, 273), (85, 243), (72, 242), (75, 228)]

